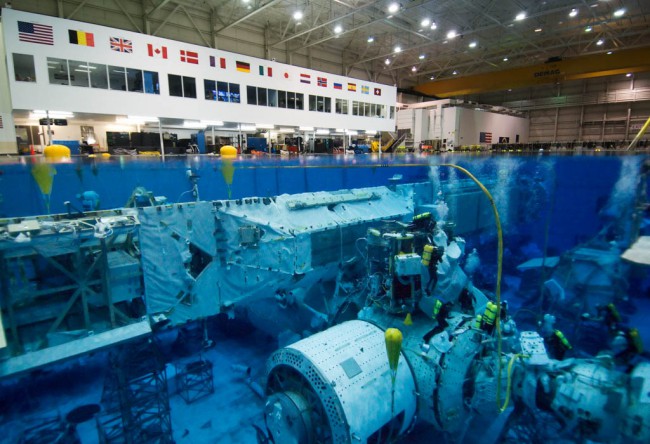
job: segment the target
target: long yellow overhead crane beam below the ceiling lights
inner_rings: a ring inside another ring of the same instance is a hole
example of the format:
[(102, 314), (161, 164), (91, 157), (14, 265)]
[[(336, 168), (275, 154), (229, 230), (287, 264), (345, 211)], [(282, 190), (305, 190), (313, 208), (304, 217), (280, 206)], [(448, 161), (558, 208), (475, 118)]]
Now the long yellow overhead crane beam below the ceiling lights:
[(543, 83), (650, 71), (650, 46), (572, 57), (539, 65), (487, 72), (467, 77), (434, 80), (413, 89), (439, 98), (524, 88)]

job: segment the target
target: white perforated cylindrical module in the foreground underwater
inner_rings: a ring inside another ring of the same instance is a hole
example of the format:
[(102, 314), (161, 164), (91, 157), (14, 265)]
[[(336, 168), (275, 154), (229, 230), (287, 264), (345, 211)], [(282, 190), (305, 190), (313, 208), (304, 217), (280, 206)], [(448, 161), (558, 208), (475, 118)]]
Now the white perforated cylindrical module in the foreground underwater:
[(415, 420), (412, 370), (400, 354), (393, 390), (384, 331), (369, 322), (345, 322), (278, 350), (267, 370), (275, 442), (384, 441)]

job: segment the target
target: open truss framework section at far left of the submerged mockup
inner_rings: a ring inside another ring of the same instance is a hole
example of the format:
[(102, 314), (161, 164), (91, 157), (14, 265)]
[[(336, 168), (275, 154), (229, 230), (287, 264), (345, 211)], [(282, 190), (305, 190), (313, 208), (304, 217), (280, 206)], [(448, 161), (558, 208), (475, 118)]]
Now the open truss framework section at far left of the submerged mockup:
[[(140, 320), (138, 221), (102, 212), (0, 220), (0, 302), (13, 355)], [(104, 217), (107, 224), (97, 228)], [(18, 239), (21, 239), (20, 241)]]

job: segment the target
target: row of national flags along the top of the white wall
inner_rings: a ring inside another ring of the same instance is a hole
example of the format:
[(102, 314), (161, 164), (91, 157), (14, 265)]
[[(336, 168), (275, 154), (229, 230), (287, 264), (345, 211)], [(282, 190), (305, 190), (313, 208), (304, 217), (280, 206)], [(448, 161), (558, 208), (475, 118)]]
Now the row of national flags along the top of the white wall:
[[(85, 32), (79, 30), (68, 30), (68, 39), (69, 42), (73, 45), (80, 46), (95, 46), (95, 35), (92, 32)], [(54, 45), (54, 34), (52, 26), (50, 25), (40, 25), (37, 23), (30, 22), (18, 22), (18, 40), (21, 42), (28, 43), (38, 43), (41, 45)], [(133, 54), (133, 41), (124, 39), (121, 37), (110, 37), (109, 39), (110, 48), (113, 51), (121, 52), (124, 54)], [(147, 54), (149, 57), (167, 59), (169, 54), (167, 47), (164, 45), (156, 46), (151, 43), (147, 44)], [(189, 63), (192, 65), (199, 64), (199, 53), (196, 51), (188, 51), (181, 49), (180, 50), (180, 61), (184, 63)], [(209, 63), (211, 67), (216, 68), (217, 65), (221, 69), (226, 69), (226, 59), (224, 57), (215, 57), (210, 56)], [(237, 60), (235, 62), (235, 68), (239, 72), (250, 73), (251, 64), (248, 62), (241, 62)], [(273, 77), (273, 68), (270, 66), (259, 65), (259, 74), (261, 76)], [(284, 73), (284, 78), (289, 79), (290, 75), (288, 72)], [(315, 85), (327, 88), (327, 77), (316, 76)], [(311, 74), (300, 74), (300, 83), (311, 85)], [(343, 90), (343, 84), (338, 82), (333, 82), (332, 86), (334, 89)], [(356, 92), (357, 85), (356, 83), (348, 83), (348, 91)], [(360, 86), (361, 94), (370, 94), (370, 87), (367, 85)], [(374, 95), (381, 96), (381, 88), (374, 88)]]

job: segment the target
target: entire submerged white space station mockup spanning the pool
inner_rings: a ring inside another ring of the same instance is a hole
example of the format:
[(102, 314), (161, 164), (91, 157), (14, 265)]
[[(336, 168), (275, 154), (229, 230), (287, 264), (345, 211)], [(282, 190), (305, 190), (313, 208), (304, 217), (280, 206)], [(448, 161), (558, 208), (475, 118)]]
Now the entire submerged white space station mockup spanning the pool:
[(650, 442), (650, 363), (562, 359), (571, 345), (550, 321), (519, 331), (500, 295), (500, 229), (490, 292), (474, 286), (479, 254), (430, 183), (133, 197), (1, 222), (1, 375), (221, 314), (290, 344), (268, 360), (268, 442), (396, 442), (418, 423), (445, 442), (489, 442), (544, 415), (561, 437)]

